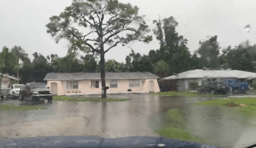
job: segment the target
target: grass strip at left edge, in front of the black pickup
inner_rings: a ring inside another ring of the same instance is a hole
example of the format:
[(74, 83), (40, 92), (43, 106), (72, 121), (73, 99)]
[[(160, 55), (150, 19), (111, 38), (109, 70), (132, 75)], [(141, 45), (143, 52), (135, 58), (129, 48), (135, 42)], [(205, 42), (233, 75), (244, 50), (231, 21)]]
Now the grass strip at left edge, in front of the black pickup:
[(13, 104), (0, 104), (0, 111), (3, 110), (19, 110), (19, 111), (28, 111), (28, 110), (37, 110), (37, 109), (46, 109), (47, 107), (41, 106), (14, 106)]

